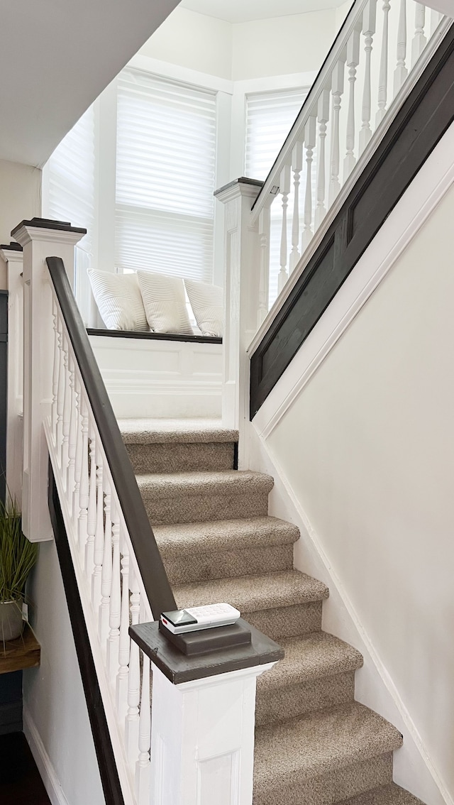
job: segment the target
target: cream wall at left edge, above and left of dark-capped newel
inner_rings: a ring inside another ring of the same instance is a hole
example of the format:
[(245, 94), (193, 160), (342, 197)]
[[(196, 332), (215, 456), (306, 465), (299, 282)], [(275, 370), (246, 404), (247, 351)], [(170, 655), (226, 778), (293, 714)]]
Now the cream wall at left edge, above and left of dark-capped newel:
[[(41, 214), (41, 171), (0, 159), (0, 243), (9, 243), (14, 226)], [(6, 266), (0, 258), (0, 287), (6, 288)]]

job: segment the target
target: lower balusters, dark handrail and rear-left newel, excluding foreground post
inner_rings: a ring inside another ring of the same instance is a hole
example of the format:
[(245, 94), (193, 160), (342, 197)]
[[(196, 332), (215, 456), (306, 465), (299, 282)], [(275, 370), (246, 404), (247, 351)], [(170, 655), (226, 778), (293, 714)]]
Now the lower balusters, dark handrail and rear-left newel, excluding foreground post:
[[(84, 232), (34, 219), (13, 233), (23, 254), (10, 250), (9, 259), (15, 267), (23, 257), (25, 291), (17, 305), (24, 310), (23, 523), (32, 541), (52, 539), (52, 526), (56, 532), (47, 504), (50, 458), (64, 522), (59, 539), (68, 543), (89, 640), (76, 649), (93, 658), (109, 732), (102, 740), (118, 778), (113, 799), (149, 805), (150, 662), (129, 629), (153, 621), (152, 606), (156, 617), (175, 609), (175, 599), (72, 294), (74, 246)], [(12, 347), (22, 346), (16, 336), (10, 332)]]

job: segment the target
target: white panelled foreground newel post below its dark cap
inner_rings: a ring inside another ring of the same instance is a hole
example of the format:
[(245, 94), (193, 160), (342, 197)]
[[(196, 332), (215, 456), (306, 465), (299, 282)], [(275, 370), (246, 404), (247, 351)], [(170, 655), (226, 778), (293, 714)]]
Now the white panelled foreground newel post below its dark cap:
[(151, 805), (252, 805), (256, 680), (273, 665), (180, 685), (152, 666)]

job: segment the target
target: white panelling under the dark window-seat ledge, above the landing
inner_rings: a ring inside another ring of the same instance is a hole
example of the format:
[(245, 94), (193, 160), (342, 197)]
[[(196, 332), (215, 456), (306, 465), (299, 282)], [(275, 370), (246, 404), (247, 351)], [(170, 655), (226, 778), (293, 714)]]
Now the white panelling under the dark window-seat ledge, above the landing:
[(118, 417), (221, 416), (222, 345), (90, 336)]

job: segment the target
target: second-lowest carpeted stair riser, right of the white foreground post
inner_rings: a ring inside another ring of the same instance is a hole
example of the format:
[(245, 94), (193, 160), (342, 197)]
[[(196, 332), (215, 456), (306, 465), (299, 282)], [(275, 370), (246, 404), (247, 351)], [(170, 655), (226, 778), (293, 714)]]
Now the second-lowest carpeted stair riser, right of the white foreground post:
[(286, 721), (290, 712), (292, 718), (297, 718), (307, 712), (334, 707), (336, 704), (346, 704), (353, 701), (354, 690), (354, 671), (322, 679), (311, 679), (278, 690), (264, 690), (263, 693), (258, 690), (256, 724)]

